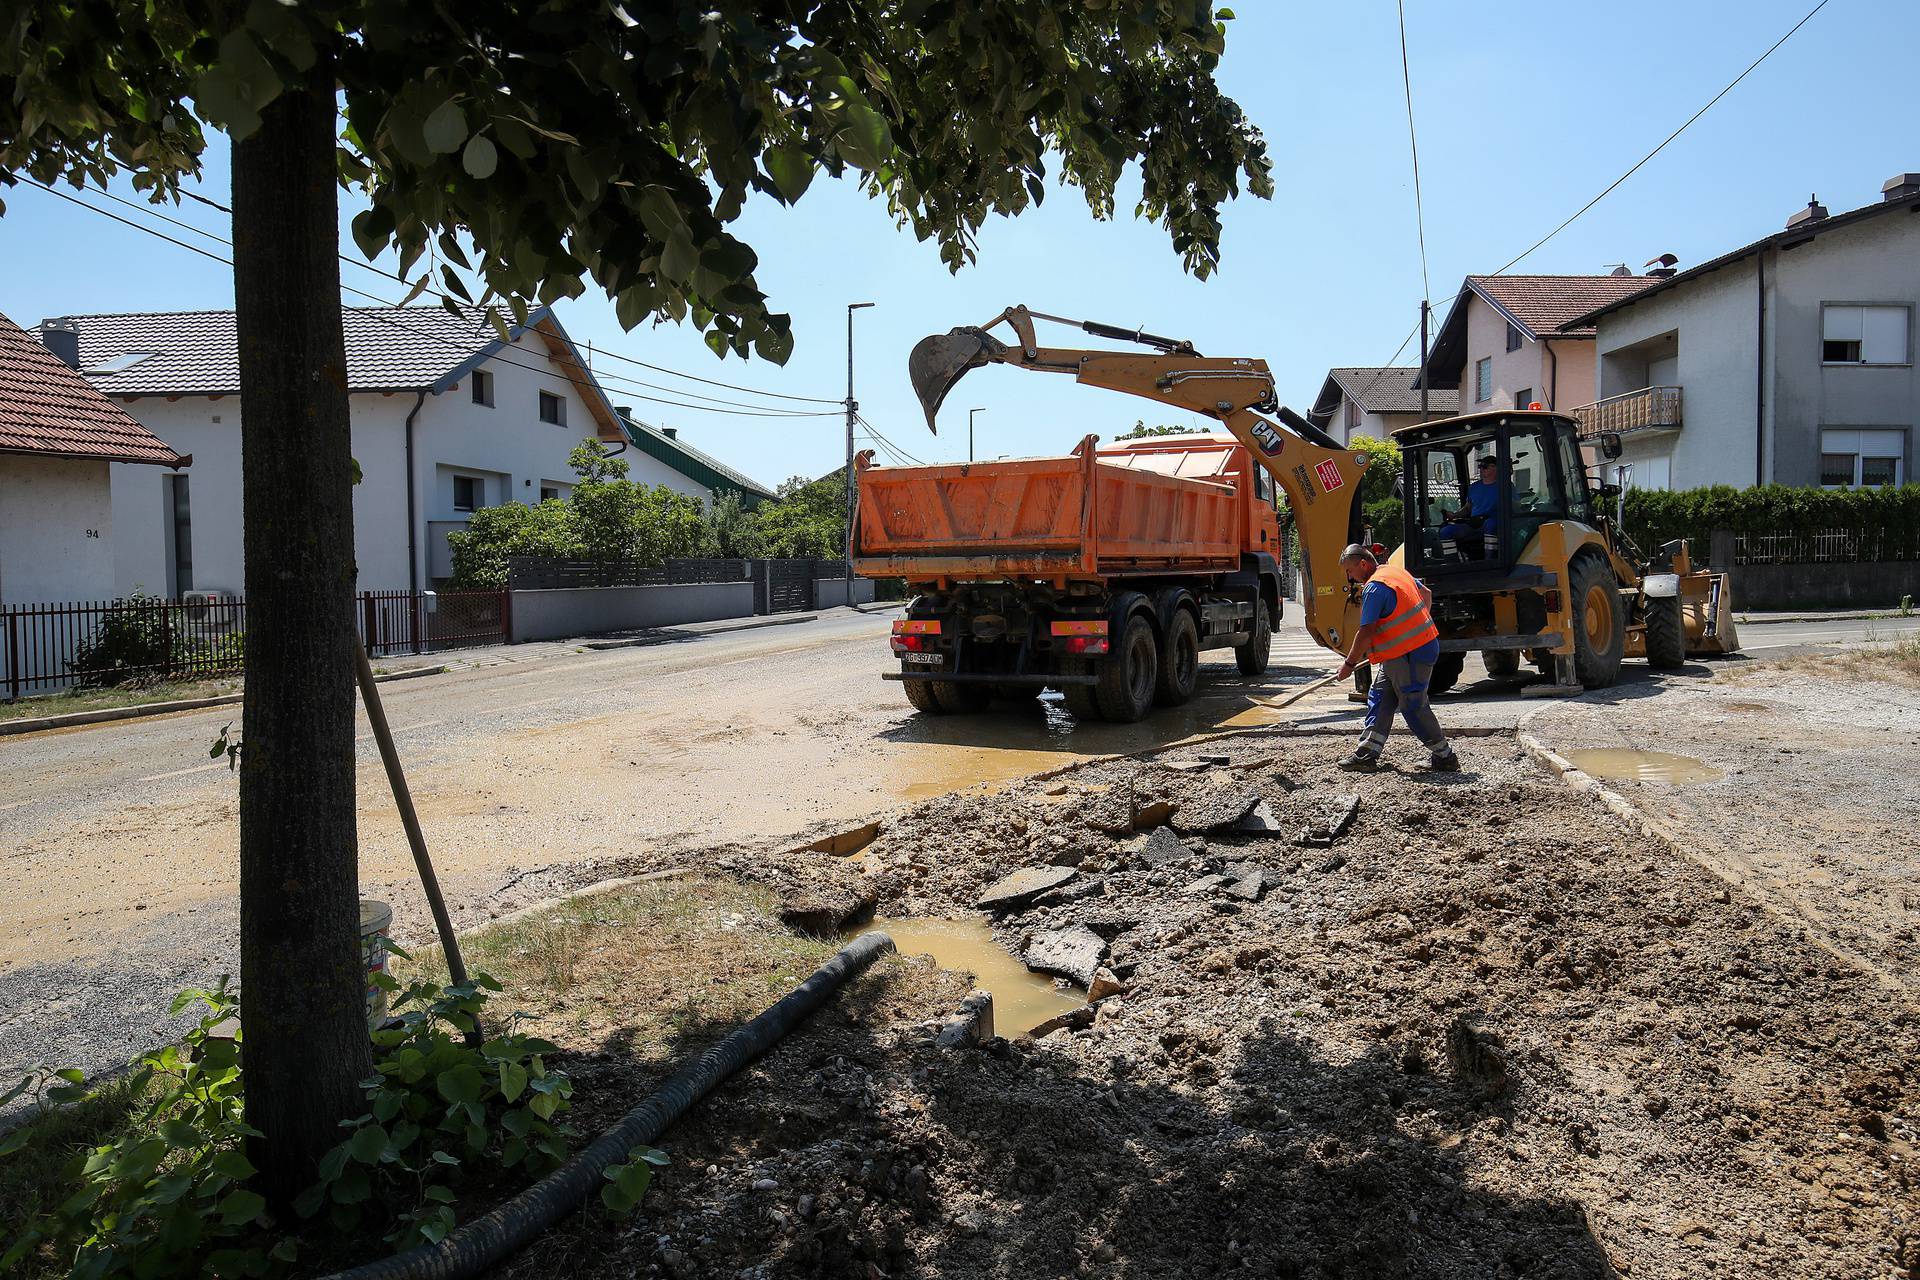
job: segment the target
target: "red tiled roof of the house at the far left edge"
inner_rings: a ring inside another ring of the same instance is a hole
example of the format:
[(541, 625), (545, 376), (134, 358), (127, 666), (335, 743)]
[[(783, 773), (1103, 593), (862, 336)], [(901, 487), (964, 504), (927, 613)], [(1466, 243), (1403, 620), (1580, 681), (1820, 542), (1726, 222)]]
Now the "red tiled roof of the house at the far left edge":
[(180, 466), (186, 459), (0, 315), (0, 453)]

